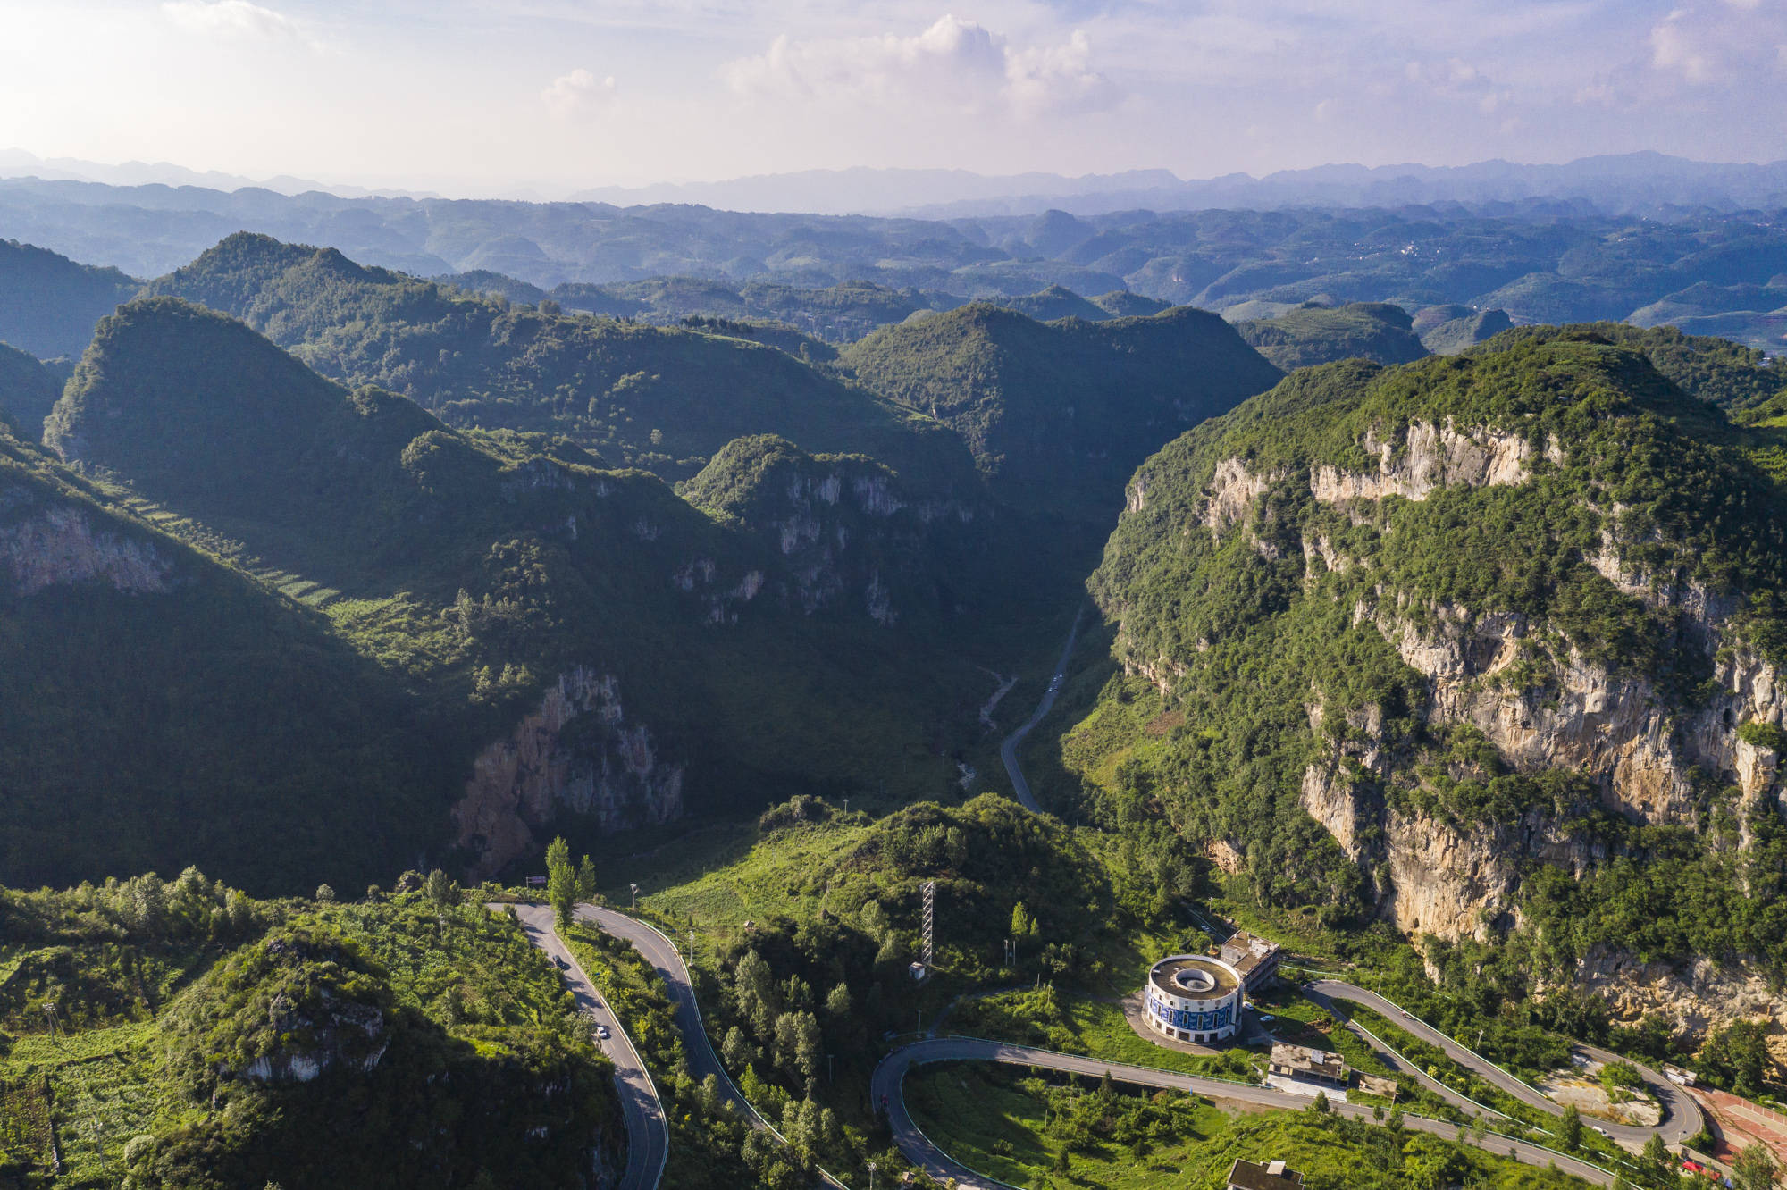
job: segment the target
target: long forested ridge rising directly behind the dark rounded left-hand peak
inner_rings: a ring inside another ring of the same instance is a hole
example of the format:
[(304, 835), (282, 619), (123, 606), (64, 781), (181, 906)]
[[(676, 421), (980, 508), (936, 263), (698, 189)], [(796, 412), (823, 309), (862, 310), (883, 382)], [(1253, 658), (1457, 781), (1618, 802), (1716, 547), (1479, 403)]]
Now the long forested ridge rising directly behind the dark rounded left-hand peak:
[(672, 479), (759, 432), (945, 486), (970, 475), (935, 425), (742, 338), (513, 307), (248, 234), (148, 291), (238, 316), (323, 375), (402, 393), (452, 425), (565, 434)]

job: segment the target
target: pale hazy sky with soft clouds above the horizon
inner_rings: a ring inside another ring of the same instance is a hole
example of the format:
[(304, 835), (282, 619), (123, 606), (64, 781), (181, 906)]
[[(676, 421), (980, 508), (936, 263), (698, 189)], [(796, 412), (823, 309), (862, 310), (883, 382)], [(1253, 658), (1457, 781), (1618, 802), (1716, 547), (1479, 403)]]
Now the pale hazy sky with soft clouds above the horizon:
[(1787, 157), (1787, 0), (0, 0), (0, 148), (443, 193)]

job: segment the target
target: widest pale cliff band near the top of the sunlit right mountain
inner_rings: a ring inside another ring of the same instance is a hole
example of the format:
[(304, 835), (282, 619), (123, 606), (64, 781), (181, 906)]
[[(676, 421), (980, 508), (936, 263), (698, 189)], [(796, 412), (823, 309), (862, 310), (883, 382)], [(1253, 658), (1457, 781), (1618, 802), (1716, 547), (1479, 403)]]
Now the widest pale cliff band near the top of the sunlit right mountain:
[[(1401, 452), (1396, 443), (1371, 432), (1362, 445), (1367, 454), (1378, 456), (1378, 470), (1356, 473), (1319, 466), (1310, 473), (1310, 491), (1317, 500), (1380, 500), (1390, 495), (1424, 500), (1446, 484), (1519, 484), (1528, 477), (1526, 461), (1533, 454), (1524, 438), (1483, 427), (1458, 431), (1451, 422), (1410, 423)], [(1556, 456), (1556, 447), (1551, 454)]]

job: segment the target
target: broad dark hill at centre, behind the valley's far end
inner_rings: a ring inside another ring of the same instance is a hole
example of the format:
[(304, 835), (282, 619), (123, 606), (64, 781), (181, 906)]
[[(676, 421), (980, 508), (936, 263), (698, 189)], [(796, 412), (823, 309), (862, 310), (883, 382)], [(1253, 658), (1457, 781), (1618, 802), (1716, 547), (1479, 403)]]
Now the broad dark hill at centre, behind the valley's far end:
[(1040, 323), (972, 304), (885, 327), (840, 359), (961, 434), (1004, 500), (1095, 520), (1160, 441), (1281, 375), (1196, 309)]

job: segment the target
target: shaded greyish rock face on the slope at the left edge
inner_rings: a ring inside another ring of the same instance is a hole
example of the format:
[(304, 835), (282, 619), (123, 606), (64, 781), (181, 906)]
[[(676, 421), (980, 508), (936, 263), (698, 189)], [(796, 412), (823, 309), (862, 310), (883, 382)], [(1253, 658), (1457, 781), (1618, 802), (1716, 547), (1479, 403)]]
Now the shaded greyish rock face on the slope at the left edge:
[(0, 565), (20, 595), (77, 582), (155, 593), (173, 582), (172, 559), (154, 545), (98, 529), (88, 513), (70, 506), (45, 507), (0, 525)]

